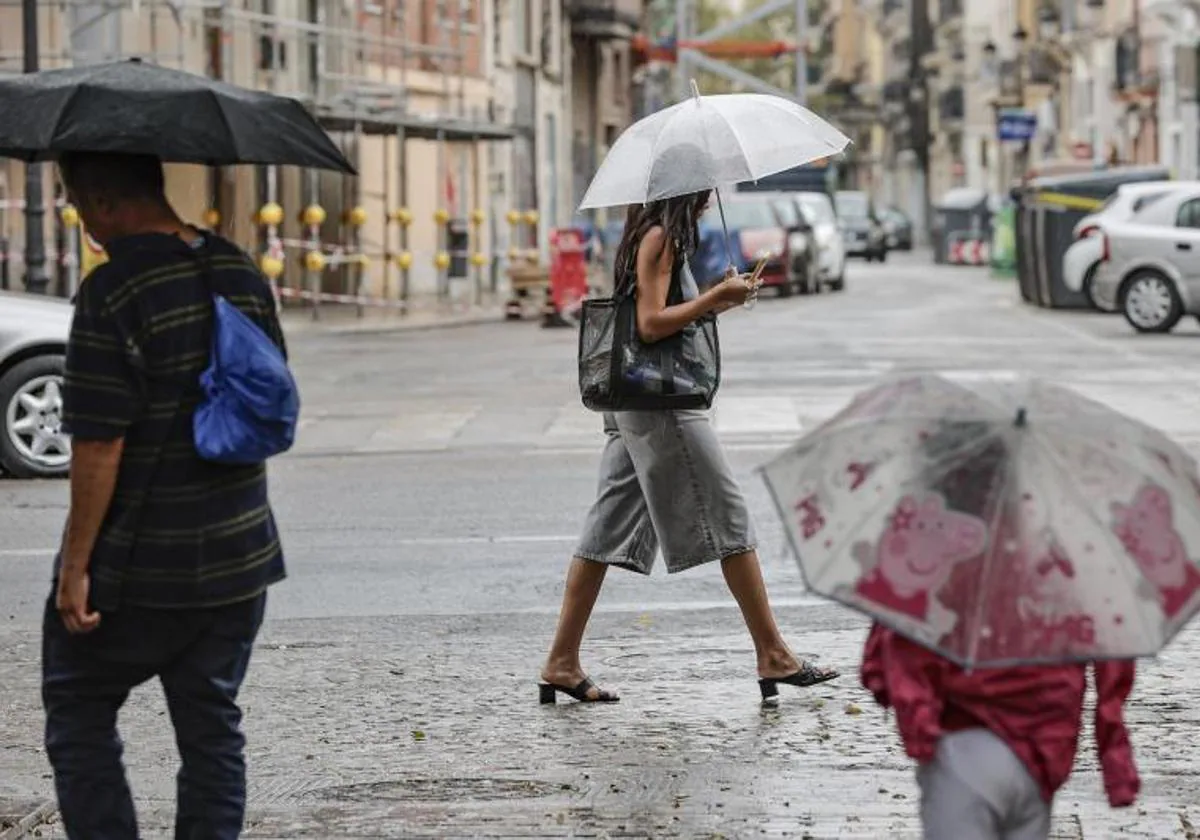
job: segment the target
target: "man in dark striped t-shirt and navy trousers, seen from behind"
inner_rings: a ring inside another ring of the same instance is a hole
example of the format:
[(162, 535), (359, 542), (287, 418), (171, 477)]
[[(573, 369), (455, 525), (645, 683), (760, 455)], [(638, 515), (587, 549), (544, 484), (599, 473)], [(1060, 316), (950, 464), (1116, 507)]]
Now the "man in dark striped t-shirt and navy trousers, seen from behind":
[(181, 758), (175, 838), (236, 838), (238, 691), (284, 570), (265, 467), (196, 452), (214, 323), (202, 259), (214, 293), (283, 348), (275, 301), (250, 257), (179, 218), (156, 157), (68, 154), (60, 167), (109, 262), (79, 289), (67, 348), (71, 508), (42, 658), (59, 809), (71, 838), (138, 836), (116, 716), (157, 677)]

